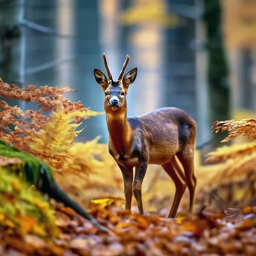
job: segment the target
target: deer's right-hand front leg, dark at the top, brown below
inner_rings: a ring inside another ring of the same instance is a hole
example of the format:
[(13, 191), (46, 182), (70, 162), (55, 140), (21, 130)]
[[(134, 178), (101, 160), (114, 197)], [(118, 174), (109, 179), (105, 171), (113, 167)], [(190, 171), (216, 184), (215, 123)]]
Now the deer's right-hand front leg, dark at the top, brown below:
[(143, 214), (143, 204), (142, 204), (142, 196), (141, 196), (141, 186), (145, 174), (147, 172), (148, 161), (141, 161), (138, 167), (135, 170), (135, 177), (133, 183), (133, 195), (136, 198), (138, 204), (138, 210), (140, 214)]

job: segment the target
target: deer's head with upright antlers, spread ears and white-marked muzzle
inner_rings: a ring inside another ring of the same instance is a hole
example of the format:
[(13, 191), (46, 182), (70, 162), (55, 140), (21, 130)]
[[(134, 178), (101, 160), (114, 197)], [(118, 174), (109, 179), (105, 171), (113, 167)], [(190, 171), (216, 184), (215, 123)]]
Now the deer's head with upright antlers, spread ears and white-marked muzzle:
[(100, 84), (103, 92), (105, 93), (104, 109), (106, 112), (109, 111), (125, 111), (126, 106), (126, 95), (128, 93), (128, 88), (132, 84), (137, 76), (137, 68), (133, 68), (125, 75), (125, 70), (127, 68), (130, 57), (127, 55), (124, 62), (124, 66), (120, 72), (117, 81), (113, 81), (113, 77), (108, 67), (108, 61), (106, 55), (103, 54), (103, 59), (105, 63), (106, 70), (108, 72), (108, 77), (99, 69), (94, 69), (94, 76), (98, 84)]

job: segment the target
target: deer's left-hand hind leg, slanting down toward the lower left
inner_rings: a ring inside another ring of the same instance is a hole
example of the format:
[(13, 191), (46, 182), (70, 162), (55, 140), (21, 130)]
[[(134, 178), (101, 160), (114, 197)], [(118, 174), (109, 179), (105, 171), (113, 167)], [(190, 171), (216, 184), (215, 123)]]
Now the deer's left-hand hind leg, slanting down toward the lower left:
[(182, 172), (182, 168), (177, 163), (175, 156), (172, 161), (162, 165), (164, 171), (172, 178), (175, 184), (175, 196), (173, 199), (172, 209), (168, 215), (168, 218), (175, 218), (177, 210), (179, 208), (180, 200), (184, 195), (187, 188), (186, 177)]

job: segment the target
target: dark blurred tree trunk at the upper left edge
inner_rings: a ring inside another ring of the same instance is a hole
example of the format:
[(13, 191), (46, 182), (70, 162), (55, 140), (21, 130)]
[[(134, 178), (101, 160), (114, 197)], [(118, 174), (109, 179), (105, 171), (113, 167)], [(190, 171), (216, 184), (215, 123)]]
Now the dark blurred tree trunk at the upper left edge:
[[(5, 83), (20, 81), (20, 0), (0, 0), (0, 77)], [(17, 104), (15, 100), (6, 100)]]

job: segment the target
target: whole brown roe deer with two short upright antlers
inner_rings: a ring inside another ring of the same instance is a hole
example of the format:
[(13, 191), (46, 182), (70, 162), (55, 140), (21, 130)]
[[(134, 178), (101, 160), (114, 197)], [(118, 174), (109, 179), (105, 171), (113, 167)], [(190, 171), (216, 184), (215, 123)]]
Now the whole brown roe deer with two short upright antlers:
[[(125, 209), (131, 210), (133, 192), (138, 210), (143, 214), (141, 185), (147, 166), (160, 164), (172, 178), (176, 189), (168, 218), (175, 218), (187, 185), (190, 196), (189, 212), (192, 212), (196, 188), (194, 175), (196, 122), (178, 108), (161, 108), (145, 115), (127, 117), (126, 95), (130, 84), (136, 79), (137, 68), (124, 75), (129, 62), (127, 55), (115, 82), (105, 54), (103, 58), (109, 79), (104, 72), (96, 68), (94, 76), (105, 93), (104, 109), (109, 131), (109, 153), (122, 171)], [(178, 159), (184, 168), (184, 173)]]

